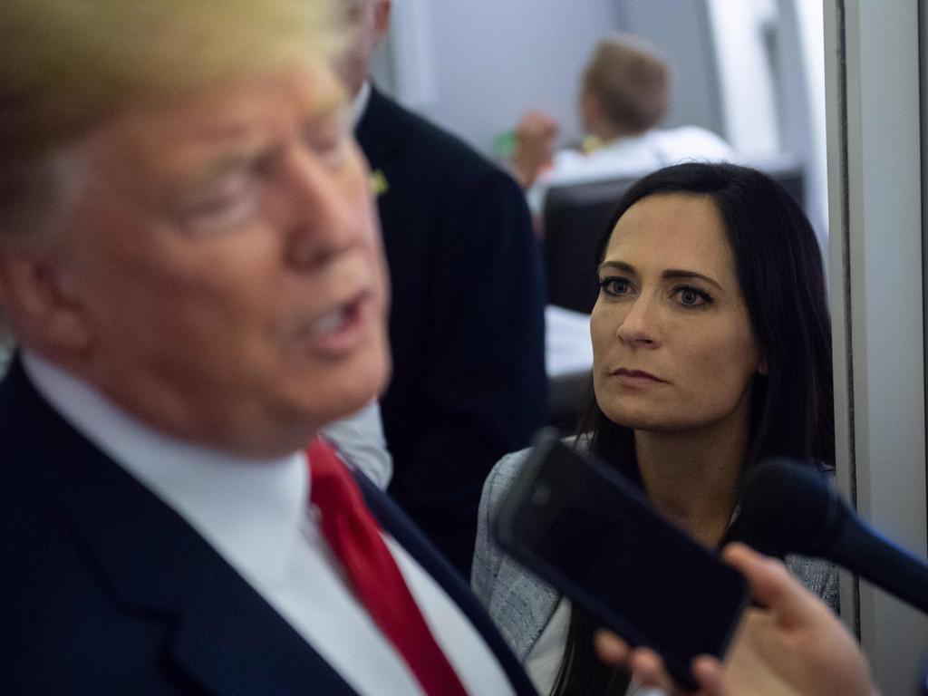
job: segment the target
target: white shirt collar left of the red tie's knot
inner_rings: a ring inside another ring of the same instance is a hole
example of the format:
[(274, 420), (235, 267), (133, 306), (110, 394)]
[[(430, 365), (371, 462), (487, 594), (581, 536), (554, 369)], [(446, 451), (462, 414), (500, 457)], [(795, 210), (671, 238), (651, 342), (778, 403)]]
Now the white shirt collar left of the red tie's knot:
[(128, 415), (84, 380), (23, 351), (36, 390), (84, 437), (178, 512), (239, 573), (274, 586), (301, 540), (306, 456), (249, 459), (177, 440)]

